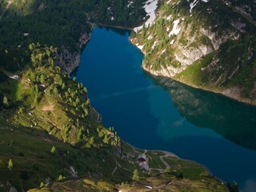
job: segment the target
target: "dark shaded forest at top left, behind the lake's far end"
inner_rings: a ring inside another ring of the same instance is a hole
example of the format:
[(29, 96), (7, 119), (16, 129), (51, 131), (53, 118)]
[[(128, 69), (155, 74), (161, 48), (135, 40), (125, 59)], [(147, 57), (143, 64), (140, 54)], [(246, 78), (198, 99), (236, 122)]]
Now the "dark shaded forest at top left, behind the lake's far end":
[(21, 69), (30, 57), (26, 54), (27, 47), (39, 42), (57, 47), (58, 65), (70, 73), (79, 64), (80, 50), (90, 38), (94, 24), (137, 26), (146, 15), (142, 2), (2, 0), (0, 66), (6, 70)]

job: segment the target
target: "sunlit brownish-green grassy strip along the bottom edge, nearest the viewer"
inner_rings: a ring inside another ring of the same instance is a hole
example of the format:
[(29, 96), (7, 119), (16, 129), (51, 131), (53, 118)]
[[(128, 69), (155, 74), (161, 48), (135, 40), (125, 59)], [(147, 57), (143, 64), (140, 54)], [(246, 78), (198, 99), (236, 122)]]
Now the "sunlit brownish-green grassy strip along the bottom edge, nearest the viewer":
[(203, 178), (201, 181), (192, 181), (190, 179), (178, 179), (172, 174), (158, 174), (155, 177), (146, 178), (139, 182), (129, 182), (122, 185), (113, 185), (109, 182), (95, 181), (90, 178), (84, 178), (76, 181), (54, 183), (49, 188), (42, 190), (29, 190), (30, 192), (60, 192), (60, 191), (152, 191), (146, 186), (153, 187), (154, 191), (202, 191), (202, 192), (222, 192), (227, 191), (226, 186), (213, 179)]

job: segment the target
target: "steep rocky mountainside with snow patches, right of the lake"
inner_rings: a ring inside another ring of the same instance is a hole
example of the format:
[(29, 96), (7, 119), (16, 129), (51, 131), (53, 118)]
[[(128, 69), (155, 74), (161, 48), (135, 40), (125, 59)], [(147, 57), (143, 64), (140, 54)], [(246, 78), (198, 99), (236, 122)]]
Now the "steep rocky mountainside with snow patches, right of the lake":
[(131, 41), (143, 68), (256, 104), (254, 9), (248, 1), (160, 1), (153, 25)]

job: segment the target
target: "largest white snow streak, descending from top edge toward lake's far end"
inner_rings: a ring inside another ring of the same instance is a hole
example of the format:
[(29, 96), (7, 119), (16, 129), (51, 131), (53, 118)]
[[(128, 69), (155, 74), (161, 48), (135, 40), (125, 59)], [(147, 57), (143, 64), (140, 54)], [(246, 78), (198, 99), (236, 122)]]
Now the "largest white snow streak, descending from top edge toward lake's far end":
[[(146, 14), (150, 16), (150, 18), (145, 22), (145, 26), (149, 26), (154, 22), (156, 18), (155, 10), (158, 8), (158, 0), (148, 0), (144, 6)], [(137, 33), (139, 30), (142, 30), (142, 26), (138, 26), (134, 28), (134, 31)]]

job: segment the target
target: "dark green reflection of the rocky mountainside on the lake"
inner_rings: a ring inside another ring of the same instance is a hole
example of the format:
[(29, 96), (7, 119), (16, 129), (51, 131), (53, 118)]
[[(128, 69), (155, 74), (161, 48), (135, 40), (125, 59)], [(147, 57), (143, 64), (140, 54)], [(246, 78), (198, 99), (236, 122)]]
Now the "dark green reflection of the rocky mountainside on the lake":
[(152, 77), (170, 93), (181, 116), (195, 126), (210, 128), (239, 146), (256, 150), (256, 107), (219, 94), (194, 89), (170, 78)]

